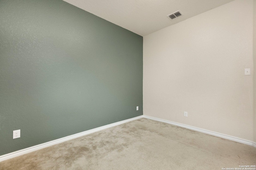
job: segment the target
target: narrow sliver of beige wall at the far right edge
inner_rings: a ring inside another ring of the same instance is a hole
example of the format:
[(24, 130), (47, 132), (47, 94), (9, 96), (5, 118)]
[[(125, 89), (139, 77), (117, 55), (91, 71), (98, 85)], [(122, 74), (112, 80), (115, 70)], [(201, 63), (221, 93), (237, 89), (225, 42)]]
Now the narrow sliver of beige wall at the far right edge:
[(254, 143), (256, 143), (256, 0), (253, 1), (253, 95), (254, 95)]

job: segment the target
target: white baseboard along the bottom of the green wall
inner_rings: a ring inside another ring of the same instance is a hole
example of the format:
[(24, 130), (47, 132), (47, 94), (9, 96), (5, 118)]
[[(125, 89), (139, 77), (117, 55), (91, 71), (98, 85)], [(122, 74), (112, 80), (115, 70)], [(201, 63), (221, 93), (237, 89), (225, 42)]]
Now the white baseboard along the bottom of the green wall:
[(10, 158), (14, 158), (16, 156), (27, 154), (29, 152), (33, 152), (33, 151), (36, 151), (36, 150), (39, 150), (39, 149), (50, 147), (52, 145), (56, 145), (58, 143), (62, 143), (62, 142), (68, 141), (70, 139), (75, 139), (75, 138), (78, 138), (78, 137), (81, 137), (81, 136), (84, 136), (84, 135), (88, 135), (90, 133), (101, 131), (103, 129), (107, 129), (107, 128), (110, 128), (110, 127), (113, 127), (113, 126), (116, 126), (116, 125), (120, 125), (120, 124), (126, 123), (128, 121), (133, 121), (133, 120), (140, 119), (140, 118), (142, 118), (142, 115), (138, 116), (138, 117), (131, 118), (131, 119), (126, 119), (126, 120), (123, 120), (123, 121), (118, 121), (116, 123), (111, 123), (109, 125), (97, 127), (95, 129), (91, 129), (91, 130), (88, 130), (88, 131), (76, 133), (74, 135), (70, 135), (70, 136), (67, 136), (67, 137), (62, 137), (60, 139), (56, 139), (54, 141), (49, 141), (49, 142), (46, 142), (46, 143), (42, 143), (40, 145), (36, 145), (36, 146), (33, 146), (33, 147), (29, 147), (29, 148), (25, 148), (25, 149), (22, 149), (22, 150), (17, 150), (15, 152), (11, 152), (11, 153), (8, 153), (8, 154), (4, 154), (4, 155), (0, 156), (0, 162), (4, 161), (4, 160), (7, 160), (7, 159), (10, 159)]

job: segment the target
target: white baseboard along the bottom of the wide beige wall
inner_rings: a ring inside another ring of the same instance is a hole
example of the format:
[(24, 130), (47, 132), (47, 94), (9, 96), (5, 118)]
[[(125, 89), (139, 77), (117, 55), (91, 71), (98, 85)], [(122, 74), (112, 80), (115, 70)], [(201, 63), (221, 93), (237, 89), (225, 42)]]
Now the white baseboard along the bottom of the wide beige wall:
[(239, 143), (243, 143), (243, 144), (246, 144), (246, 145), (256, 147), (256, 143), (253, 143), (252, 141), (247, 141), (247, 140), (244, 140), (244, 139), (240, 139), (240, 138), (237, 138), (237, 137), (232, 137), (232, 136), (224, 135), (224, 134), (221, 134), (221, 133), (208, 131), (208, 130), (205, 130), (205, 129), (200, 129), (200, 128), (197, 128), (197, 127), (192, 127), (192, 126), (184, 125), (184, 124), (181, 124), (181, 123), (176, 123), (176, 122), (173, 122), (173, 121), (158, 119), (156, 117), (150, 117), (150, 116), (146, 116), (146, 115), (143, 115), (142, 117), (147, 118), (147, 119), (152, 119), (152, 120), (155, 120), (155, 121), (169, 123), (169, 124), (184, 127), (184, 128), (187, 128), (187, 129), (190, 129), (190, 130), (193, 130), (193, 131), (206, 133), (206, 134), (213, 135), (213, 136), (216, 136), (216, 137), (221, 137), (221, 138), (224, 138), (224, 139), (229, 139), (231, 141), (236, 141), (236, 142), (239, 142)]

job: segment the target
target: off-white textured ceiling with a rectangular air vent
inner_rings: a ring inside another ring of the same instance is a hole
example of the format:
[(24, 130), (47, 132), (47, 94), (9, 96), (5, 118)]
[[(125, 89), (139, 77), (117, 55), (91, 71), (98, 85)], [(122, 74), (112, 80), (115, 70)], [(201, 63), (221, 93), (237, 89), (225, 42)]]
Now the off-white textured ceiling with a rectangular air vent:
[[(139, 35), (148, 35), (233, 0), (64, 0)], [(166, 16), (180, 10), (183, 16)]]

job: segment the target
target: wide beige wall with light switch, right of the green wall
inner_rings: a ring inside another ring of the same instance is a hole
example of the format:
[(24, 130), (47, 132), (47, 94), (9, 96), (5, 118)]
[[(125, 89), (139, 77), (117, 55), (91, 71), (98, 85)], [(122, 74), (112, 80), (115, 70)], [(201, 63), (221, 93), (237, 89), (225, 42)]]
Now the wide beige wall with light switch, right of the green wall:
[(144, 115), (253, 140), (253, 76), (244, 75), (253, 71), (252, 3), (235, 0), (143, 37)]

